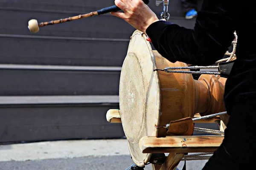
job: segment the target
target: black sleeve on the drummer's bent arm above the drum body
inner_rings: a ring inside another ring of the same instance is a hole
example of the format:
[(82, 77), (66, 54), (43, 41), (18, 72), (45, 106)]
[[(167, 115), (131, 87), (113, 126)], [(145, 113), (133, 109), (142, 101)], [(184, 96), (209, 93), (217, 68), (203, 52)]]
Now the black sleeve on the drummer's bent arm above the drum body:
[(154, 48), (171, 62), (212, 65), (224, 56), (238, 23), (236, 1), (204, 0), (194, 29), (163, 20), (146, 30)]

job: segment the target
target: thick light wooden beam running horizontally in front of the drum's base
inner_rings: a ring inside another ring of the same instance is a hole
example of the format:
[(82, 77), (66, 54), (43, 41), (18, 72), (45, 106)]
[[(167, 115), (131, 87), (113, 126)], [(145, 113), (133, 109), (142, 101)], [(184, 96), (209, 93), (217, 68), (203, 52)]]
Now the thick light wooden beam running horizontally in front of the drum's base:
[(221, 145), (224, 136), (144, 136), (140, 139), (143, 153), (198, 153), (214, 152)]

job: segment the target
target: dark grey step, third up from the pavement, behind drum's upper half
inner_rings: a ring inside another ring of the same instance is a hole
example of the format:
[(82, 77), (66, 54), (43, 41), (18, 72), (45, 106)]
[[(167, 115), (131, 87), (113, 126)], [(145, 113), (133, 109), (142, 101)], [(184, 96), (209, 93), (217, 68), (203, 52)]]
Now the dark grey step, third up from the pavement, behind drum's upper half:
[(0, 63), (122, 66), (129, 40), (0, 34)]

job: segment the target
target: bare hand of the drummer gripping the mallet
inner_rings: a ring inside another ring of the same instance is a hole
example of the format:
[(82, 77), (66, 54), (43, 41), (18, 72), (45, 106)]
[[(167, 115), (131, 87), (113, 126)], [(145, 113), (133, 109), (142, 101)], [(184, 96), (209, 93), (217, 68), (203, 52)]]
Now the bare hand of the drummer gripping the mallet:
[(115, 0), (115, 4), (124, 12), (111, 12), (122, 18), (134, 28), (146, 34), (146, 29), (158, 21), (157, 15), (142, 0)]

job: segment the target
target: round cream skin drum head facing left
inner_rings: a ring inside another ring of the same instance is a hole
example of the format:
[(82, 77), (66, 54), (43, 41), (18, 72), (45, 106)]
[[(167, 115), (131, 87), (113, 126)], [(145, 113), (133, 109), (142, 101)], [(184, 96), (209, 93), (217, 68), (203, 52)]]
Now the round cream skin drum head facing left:
[(145, 34), (135, 31), (122, 65), (119, 107), (122, 127), (134, 162), (142, 167), (151, 154), (140, 151), (143, 136), (157, 136), (160, 119), (160, 81), (151, 45)]

